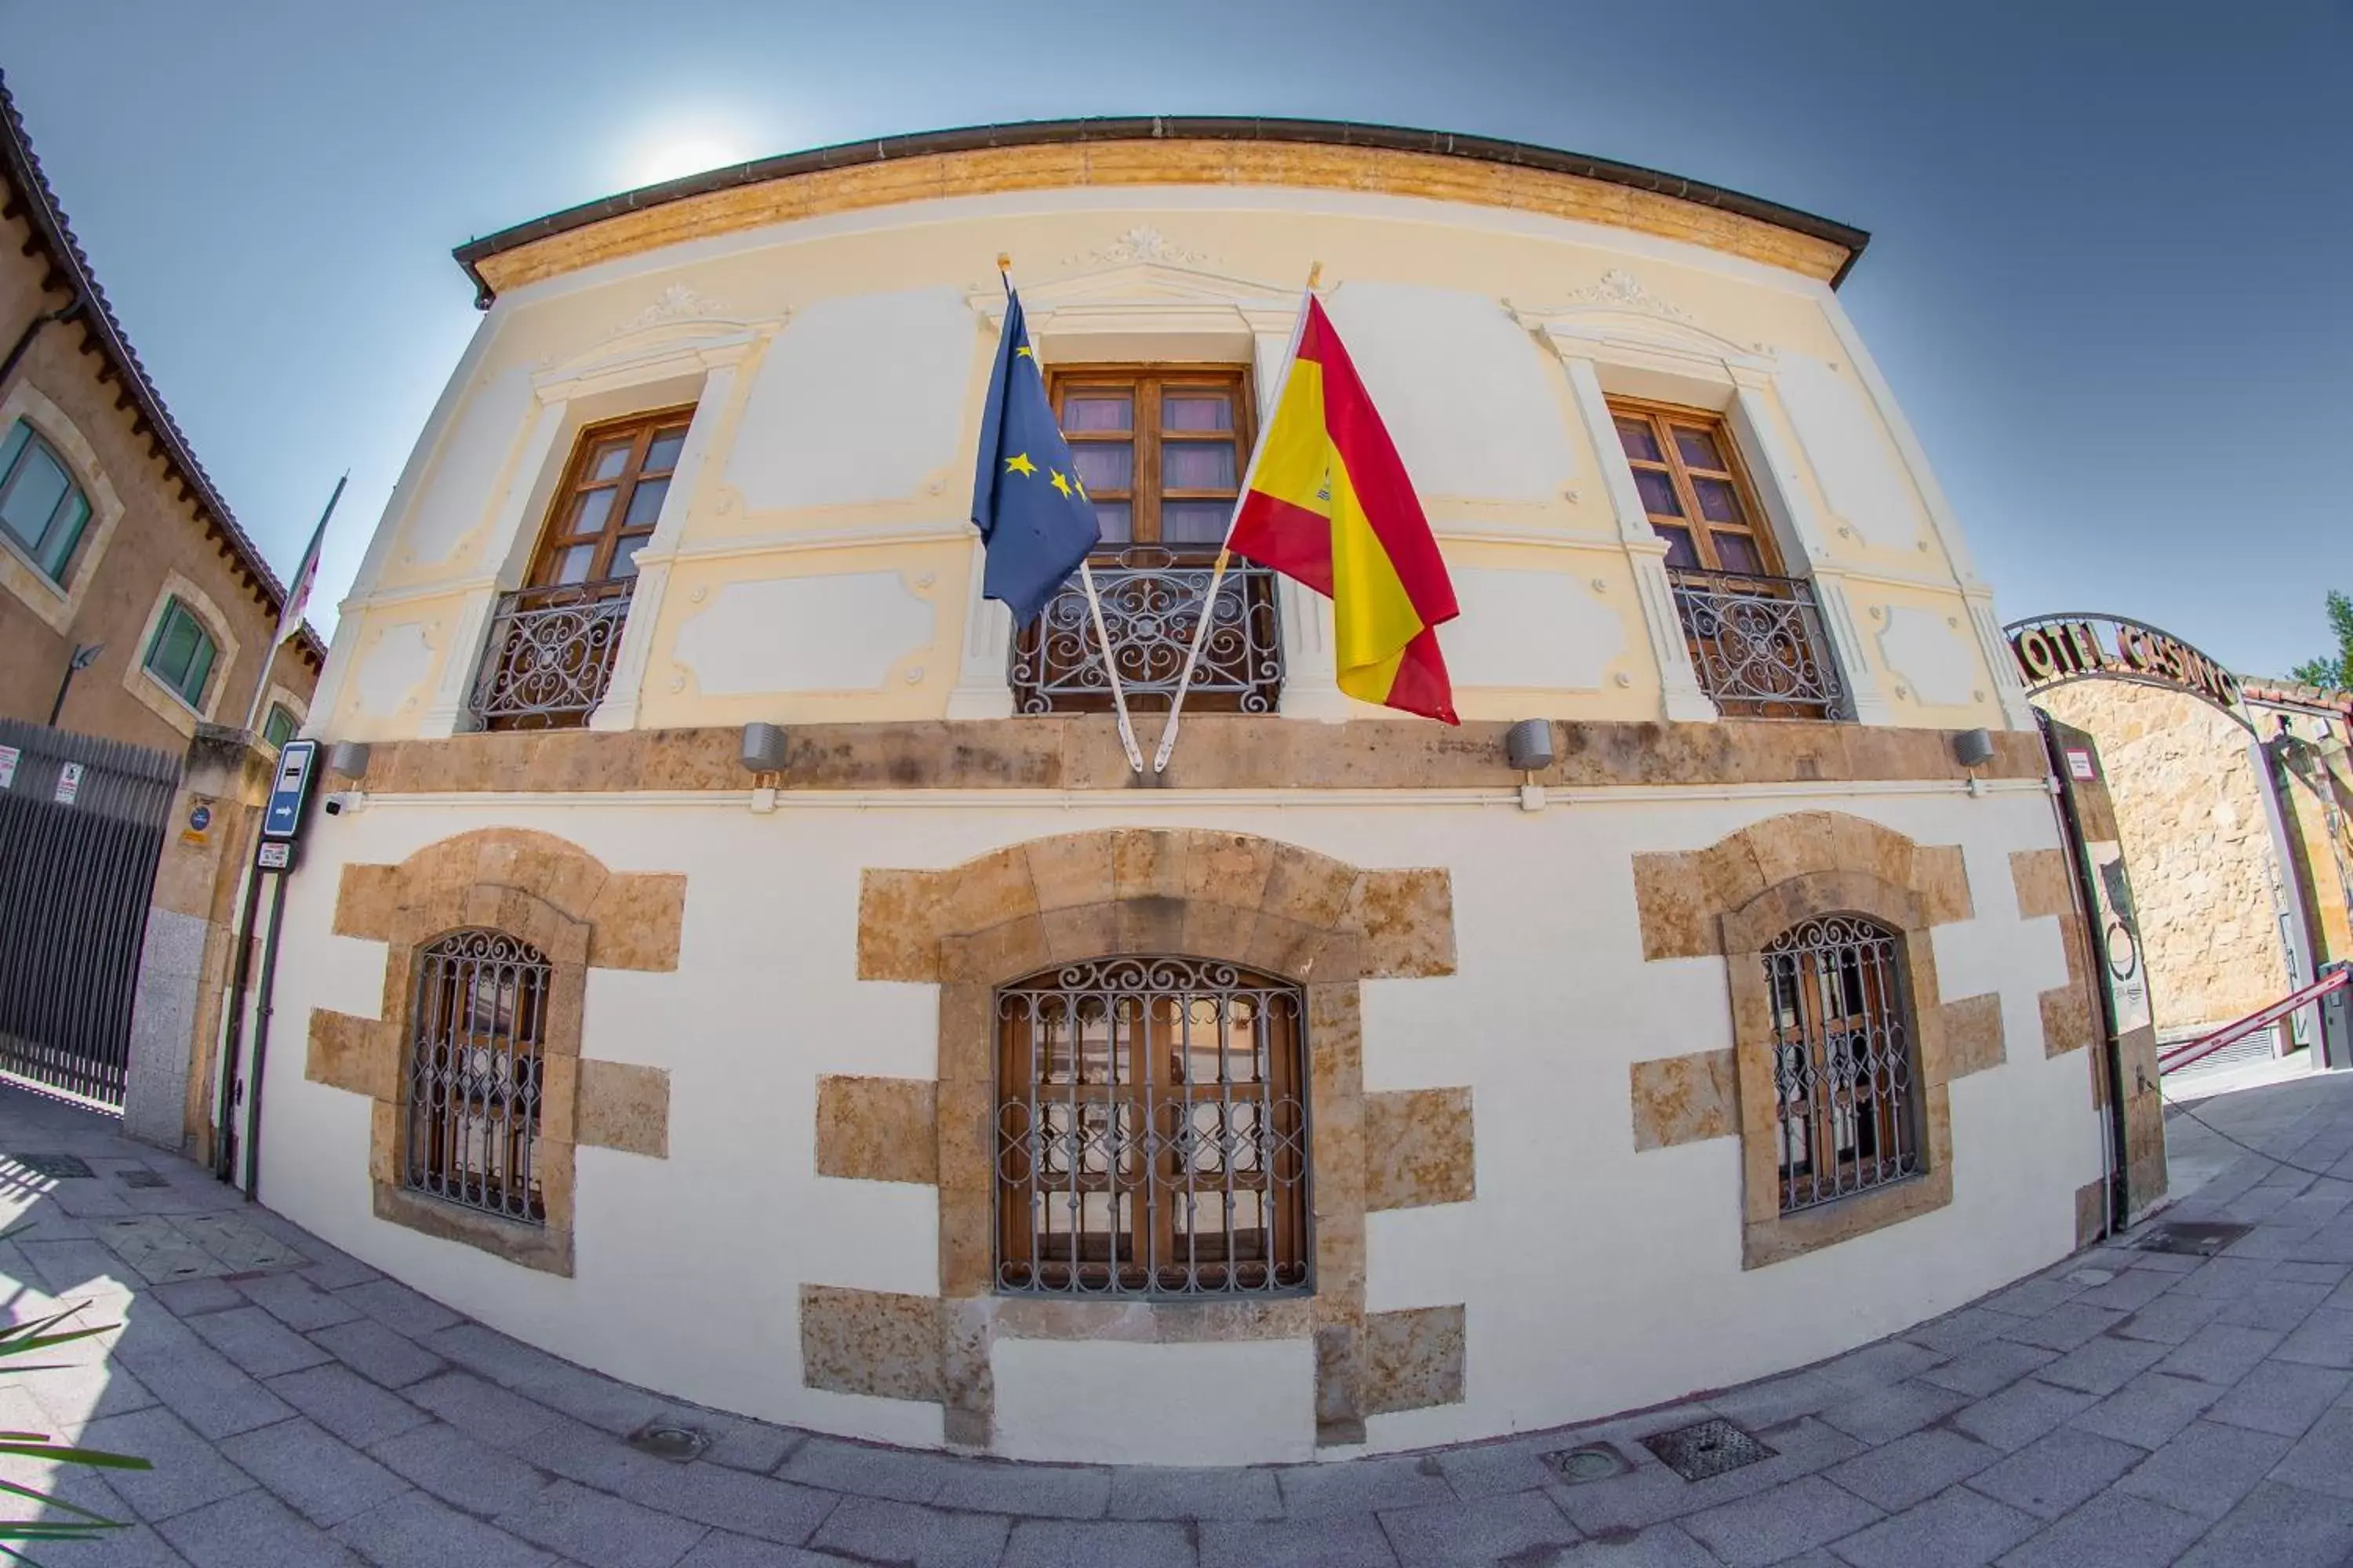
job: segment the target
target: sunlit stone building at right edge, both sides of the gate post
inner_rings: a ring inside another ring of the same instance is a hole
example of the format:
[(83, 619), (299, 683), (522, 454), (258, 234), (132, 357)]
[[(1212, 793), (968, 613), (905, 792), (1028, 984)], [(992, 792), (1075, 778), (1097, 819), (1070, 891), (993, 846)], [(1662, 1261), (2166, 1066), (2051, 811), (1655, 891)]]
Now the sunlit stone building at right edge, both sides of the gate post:
[[(2346, 698), (2249, 684), (2254, 733), (2184, 691), (2115, 679), (2033, 701), (2099, 743), (2160, 1039), (2245, 1018), (2306, 983), (2315, 961), (2353, 957)], [(2275, 759), (2278, 743), (2264, 745), (2282, 722), (2301, 743), (2285, 755), (2294, 769)]]

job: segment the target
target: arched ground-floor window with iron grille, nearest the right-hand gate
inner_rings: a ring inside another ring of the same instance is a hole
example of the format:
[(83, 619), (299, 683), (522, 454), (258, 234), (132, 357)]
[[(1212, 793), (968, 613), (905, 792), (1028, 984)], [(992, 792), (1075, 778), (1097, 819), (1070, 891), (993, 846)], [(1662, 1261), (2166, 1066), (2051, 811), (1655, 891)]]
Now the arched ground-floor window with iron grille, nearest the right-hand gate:
[(1765, 947), (1781, 1213), (1920, 1175), (1904, 938), (1821, 914)]

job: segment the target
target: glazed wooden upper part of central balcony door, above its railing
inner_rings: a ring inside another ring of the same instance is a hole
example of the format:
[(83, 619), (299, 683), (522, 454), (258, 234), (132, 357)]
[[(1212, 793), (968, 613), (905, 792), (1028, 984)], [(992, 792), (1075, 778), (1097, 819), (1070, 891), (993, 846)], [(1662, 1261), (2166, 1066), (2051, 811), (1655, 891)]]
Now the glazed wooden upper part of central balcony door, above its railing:
[(1249, 386), (1224, 367), (1056, 367), (1054, 416), (1104, 550), (1217, 550), (1249, 458)]

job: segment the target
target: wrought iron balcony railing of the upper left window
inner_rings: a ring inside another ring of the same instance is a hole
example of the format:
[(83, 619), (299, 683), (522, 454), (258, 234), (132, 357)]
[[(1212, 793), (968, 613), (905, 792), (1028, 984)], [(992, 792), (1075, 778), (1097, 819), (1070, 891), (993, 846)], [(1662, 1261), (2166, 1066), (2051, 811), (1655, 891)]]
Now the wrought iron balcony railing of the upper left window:
[(579, 729), (605, 701), (635, 578), (525, 588), (499, 599), (473, 677), (480, 729)]

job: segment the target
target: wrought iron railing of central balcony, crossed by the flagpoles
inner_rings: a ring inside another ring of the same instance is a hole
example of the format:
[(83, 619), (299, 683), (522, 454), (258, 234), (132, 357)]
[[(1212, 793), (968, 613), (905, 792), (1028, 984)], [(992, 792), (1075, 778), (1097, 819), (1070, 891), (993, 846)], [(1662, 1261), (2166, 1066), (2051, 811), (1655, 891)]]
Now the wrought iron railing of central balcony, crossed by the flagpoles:
[[(1167, 708), (1209, 590), (1209, 564), (1179, 564), (1167, 550), (1134, 548), (1118, 564), (1096, 562), (1094, 588), (1129, 705)], [(1078, 578), (1014, 637), (1012, 686), (1016, 712), (1111, 708), (1111, 679)], [(1273, 712), (1278, 691), (1282, 635), (1275, 574), (1235, 562), (1217, 588), (1186, 710)]]

